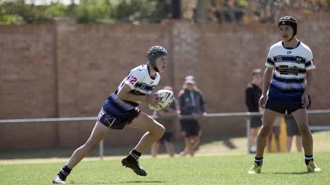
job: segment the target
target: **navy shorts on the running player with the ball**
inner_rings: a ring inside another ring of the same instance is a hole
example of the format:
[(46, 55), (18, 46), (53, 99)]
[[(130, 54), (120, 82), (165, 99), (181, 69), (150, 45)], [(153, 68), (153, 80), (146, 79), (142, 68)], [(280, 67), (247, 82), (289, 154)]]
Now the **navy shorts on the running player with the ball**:
[(125, 125), (129, 125), (133, 122), (133, 120), (139, 116), (140, 112), (140, 109), (136, 107), (135, 109), (128, 111), (128, 113), (124, 116), (113, 117), (102, 107), (100, 113), (98, 113), (97, 121), (100, 121), (109, 128), (122, 130)]

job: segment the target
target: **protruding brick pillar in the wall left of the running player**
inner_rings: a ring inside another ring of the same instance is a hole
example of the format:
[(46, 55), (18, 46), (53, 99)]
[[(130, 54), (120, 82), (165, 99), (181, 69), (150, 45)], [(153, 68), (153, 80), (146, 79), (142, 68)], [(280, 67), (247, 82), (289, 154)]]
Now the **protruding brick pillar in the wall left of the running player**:
[(76, 20), (54, 19), (57, 77), (57, 117), (74, 117), (77, 91), (77, 57), (74, 45)]

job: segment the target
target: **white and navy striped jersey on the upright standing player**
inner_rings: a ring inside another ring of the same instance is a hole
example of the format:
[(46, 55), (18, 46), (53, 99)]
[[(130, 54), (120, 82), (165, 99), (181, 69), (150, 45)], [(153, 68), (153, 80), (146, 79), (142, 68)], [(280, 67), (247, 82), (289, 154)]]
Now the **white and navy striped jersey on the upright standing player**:
[(306, 70), (315, 68), (312, 51), (299, 41), (295, 48), (284, 48), (279, 41), (269, 50), (266, 66), (275, 72), (269, 89), (269, 97), (285, 101), (301, 101), (304, 94)]

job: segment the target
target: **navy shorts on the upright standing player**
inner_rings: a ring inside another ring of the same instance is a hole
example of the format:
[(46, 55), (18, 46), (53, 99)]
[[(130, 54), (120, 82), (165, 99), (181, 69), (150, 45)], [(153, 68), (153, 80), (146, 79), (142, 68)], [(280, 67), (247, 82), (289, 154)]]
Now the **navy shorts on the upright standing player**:
[(267, 99), (266, 108), (281, 114), (285, 114), (286, 111), (287, 114), (291, 114), (298, 109), (306, 109), (301, 101), (285, 101), (273, 97)]

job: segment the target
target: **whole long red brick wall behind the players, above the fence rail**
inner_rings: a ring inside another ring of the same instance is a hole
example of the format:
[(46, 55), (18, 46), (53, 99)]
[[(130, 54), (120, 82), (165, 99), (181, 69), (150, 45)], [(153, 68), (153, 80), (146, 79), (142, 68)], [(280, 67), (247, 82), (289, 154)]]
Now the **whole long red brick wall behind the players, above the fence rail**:
[[(329, 109), (330, 14), (295, 14), (298, 38), (309, 45), (317, 65), (311, 109)], [(169, 52), (158, 89), (173, 85), (177, 93), (191, 74), (204, 92), (208, 112), (245, 112), (251, 70), (265, 69), (269, 48), (279, 40), (276, 24), (168, 20), (85, 25), (60, 19), (0, 26), (0, 119), (97, 116), (129, 70), (146, 62), (152, 45), (163, 45)], [(150, 113), (146, 105), (141, 109)], [(91, 127), (80, 130), (90, 132)]]

